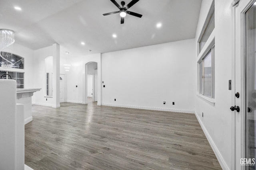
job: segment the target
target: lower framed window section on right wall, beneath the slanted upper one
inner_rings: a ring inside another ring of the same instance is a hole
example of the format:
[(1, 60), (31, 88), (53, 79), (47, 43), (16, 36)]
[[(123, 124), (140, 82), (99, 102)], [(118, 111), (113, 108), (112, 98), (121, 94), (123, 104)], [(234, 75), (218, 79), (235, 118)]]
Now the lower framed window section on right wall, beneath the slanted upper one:
[(214, 98), (214, 49), (213, 46), (210, 51), (204, 56), (199, 63), (199, 84), (200, 94)]

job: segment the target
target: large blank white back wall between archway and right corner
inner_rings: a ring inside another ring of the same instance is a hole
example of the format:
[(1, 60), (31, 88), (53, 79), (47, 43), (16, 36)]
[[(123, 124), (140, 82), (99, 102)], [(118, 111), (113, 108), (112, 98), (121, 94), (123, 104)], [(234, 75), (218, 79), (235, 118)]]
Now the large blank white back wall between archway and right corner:
[(102, 105), (194, 113), (194, 42), (103, 53)]

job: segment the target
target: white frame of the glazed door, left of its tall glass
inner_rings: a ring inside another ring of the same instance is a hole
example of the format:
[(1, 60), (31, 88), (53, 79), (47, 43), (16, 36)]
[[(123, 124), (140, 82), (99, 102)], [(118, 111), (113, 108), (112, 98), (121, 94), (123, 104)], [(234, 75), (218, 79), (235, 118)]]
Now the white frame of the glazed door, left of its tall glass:
[[(245, 158), (245, 116), (246, 116), (246, 62), (245, 62), (245, 13), (255, 0), (240, 0), (232, 8), (232, 106), (239, 106), (240, 112), (232, 113), (232, 170), (244, 170), (240, 164)], [(240, 98), (235, 97), (239, 92)]]

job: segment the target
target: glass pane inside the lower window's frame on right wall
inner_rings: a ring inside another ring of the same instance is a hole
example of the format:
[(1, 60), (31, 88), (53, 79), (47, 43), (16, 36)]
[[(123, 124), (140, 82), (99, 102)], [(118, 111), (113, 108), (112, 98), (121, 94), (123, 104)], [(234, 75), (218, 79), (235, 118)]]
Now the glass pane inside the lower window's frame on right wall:
[(203, 60), (204, 66), (204, 95), (212, 97), (212, 53), (210, 52)]

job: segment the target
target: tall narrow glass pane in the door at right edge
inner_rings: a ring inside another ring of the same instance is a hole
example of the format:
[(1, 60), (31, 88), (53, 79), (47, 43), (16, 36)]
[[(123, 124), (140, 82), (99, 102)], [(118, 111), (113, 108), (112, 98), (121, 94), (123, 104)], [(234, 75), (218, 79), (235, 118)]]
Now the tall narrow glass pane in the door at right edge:
[[(246, 12), (246, 158), (256, 154), (256, 6)], [(248, 166), (247, 169), (255, 169)]]

